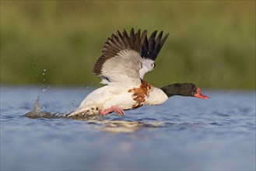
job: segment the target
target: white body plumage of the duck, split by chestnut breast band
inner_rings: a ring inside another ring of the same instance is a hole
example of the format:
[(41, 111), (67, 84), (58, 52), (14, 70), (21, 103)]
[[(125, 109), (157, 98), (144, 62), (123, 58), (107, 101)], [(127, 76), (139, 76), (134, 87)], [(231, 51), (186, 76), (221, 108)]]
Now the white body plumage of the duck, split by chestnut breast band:
[[(131, 110), (137, 107), (134, 92), (128, 92), (129, 89), (134, 89), (134, 86), (103, 86), (94, 90), (85, 99), (82, 100), (75, 112), (69, 116), (86, 113), (98, 114), (99, 110), (108, 109), (111, 106), (118, 106), (122, 110)], [(151, 87), (148, 96), (145, 96), (145, 101), (142, 105), (159, 105), (168, 99), (167, 95), (159, 88)]]

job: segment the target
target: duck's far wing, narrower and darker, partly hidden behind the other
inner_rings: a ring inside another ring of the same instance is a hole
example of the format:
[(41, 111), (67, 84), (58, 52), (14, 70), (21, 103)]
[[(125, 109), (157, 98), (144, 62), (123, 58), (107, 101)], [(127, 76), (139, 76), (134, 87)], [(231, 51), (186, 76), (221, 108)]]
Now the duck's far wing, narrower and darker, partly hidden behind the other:
[[(167, 33), (163, 37), (163, 31), (160, 32), (158, 37), (156, 38), (157, 30), (154, 31), (151, 36), (148, 38), (146, 37), (142, 46), (142, 53), (141, 53), (141, 61), (142, 61), (142, 68), (139, 70), (139, 77), (143, 79), (146, 72), (150, 72), (155, 68), (155, 61), (160, 53), (160, 50), (163, 47), (163, 44), (167, 40), (169, 33)], [(163, 37), (163, 39), (162, 39)]]

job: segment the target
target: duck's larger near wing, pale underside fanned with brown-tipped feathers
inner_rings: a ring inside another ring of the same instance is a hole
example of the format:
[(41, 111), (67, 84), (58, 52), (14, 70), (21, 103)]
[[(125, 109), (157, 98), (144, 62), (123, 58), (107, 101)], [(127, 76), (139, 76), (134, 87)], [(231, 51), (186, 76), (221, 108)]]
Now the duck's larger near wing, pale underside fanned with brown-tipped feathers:
[(131, 30), (130, 36), (124, 30), (123, 34), (117, 31), (112, 34), (103, 46), (103, 54), (96, 61), (93, 72), (102, 79), (103, 84), (132, 84), (138, 85), (139, 69), (142, 68), (142, 45), (146, 38), (146, 30), (142, 36)]

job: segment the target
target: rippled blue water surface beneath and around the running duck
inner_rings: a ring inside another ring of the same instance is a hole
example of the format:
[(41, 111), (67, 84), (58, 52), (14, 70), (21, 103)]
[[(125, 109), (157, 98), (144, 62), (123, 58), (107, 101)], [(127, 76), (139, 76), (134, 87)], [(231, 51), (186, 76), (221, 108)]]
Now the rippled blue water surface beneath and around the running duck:
[[(92, 89), (51, 87), (69, 113)], [(255, 92), (204, 91), (104, 120), (24, 117), (42, 89), (1, 87), (1, 170), (255, 170)]]

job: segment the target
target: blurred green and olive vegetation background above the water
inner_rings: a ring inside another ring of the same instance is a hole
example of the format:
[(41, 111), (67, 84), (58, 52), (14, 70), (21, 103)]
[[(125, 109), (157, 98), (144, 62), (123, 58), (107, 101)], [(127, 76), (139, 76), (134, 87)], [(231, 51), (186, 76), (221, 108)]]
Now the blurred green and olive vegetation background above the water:
[(104, 42), (132, 27), (170, 33), (153, 85), (255, 89), (255, 1), (1, 1), (1, 84), (100, 86)]

